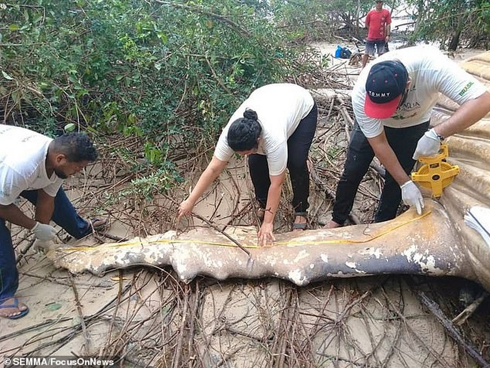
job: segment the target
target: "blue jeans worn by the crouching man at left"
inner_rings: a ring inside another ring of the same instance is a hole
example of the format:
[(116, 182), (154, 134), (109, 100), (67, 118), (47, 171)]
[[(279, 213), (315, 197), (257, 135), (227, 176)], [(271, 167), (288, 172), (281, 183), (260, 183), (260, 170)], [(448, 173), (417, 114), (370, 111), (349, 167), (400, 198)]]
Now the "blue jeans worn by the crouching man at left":
[[(24, 191), (21, 196), (36, 205), (37, 190)], [(76, 239), (92, 232), (89, 223), (78, 215), (62, 188), (54, 197), (54, 212), (51, 220)], [(5, 226), (5, 220), (0, 219), (0, 303), (14, 296), (18, 286), (19, 272), (16, 267), (12, 237)]]

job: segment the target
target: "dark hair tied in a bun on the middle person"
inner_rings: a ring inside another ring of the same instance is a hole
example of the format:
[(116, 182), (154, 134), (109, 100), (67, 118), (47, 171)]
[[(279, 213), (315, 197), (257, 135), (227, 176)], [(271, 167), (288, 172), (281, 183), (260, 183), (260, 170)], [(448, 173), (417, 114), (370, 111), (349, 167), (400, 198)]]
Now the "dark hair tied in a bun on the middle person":
[(228, 146), (235, 152), (248, 151), (258, 148), (257, 138), (262, 133), (257, 113), (251, 109), (246, 109), (244, 117), (231, 123), (226, 137)]

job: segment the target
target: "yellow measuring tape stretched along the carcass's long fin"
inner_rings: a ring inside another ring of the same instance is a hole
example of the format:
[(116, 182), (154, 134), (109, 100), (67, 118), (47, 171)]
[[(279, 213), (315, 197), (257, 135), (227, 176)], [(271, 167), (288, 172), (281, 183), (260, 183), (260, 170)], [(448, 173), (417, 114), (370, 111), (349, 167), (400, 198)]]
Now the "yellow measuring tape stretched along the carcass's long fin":
[[(353, 243), (353, 244), (363, 244), (363, 243), (368, 243), (373, 241), (374, 239), (380, 238), (402, 226), (405, 226), (411, 222), (418, 221), (420, 219), (423, 219), (424, 217), (428, 216), (432, 210), (428, 210), (425, 214), (420, 215), (416, 217), (415, 219), (408, 220), (401, 222), (395, 226), (392, 226), (388, 230), (382, 231), (368, 239), (364, 240), (349, 240), (349, 239), (336, 239), (336, 240), (319, 240), (319, 241), (298, 241), (298, 242), (278, 242), (274, 243), (273, 246), (279, 246), (279, 245), (324, 245), (324, 244), (339, 244), (339, 243)], [(202, 240), (193, 240), (193, 239), (186, 239), (186, 240), (181, 240), (181, 239), (160, 239), (160, 240), (155, 240), (149, 243), (194, 243), (194, 244), (204, 244), (204, 245), (215, 245), (215, 246), (228, 246), (228, 247), (234, 247), (238, 248), (238, 245), (234, 243), (218, 243), (218, 242), (208, 242), (208, 241), (202, 241)], [(124, 242), (124, 243), (114, 243), (114, 245), (110, 245), (107, 247), (120, 247), (120, 246), (132, 246), (132, 245), (143, 245), (141, 241), (138, 242)], [(249, 249), (256, 249), (260, 248), (258, 245), (242, 245), (244, 248), (249, 248)], [(84, 251), (84, 250), (97, 250), (99, 249), (98, 246), (79, 246), (79, 247), (70, 247), (70, 248), (59, 248), (57, 249), (58, 251), (64, 251), (64, 252), (73, 252), (73, 251)]]

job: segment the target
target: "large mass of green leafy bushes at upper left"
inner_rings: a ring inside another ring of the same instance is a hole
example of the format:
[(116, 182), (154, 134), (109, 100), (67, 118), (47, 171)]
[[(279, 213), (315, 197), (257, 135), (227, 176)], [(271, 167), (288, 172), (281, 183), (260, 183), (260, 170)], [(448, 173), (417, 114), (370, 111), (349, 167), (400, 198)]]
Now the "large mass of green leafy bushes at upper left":
[(139, 170), (172, 178), (169, 152), (192, 153), (203, 139), (214, 144), (253, 89), (292, 74), (297, 52), (290, 34), (260, 14), (261, 1), (250, 3), (6, 4), (0, 8), (4, 116), (50, 135), (69, 126), (101, 140), (133, 137), (141, 150), (127, 159), (143, 156), (147, 166)]

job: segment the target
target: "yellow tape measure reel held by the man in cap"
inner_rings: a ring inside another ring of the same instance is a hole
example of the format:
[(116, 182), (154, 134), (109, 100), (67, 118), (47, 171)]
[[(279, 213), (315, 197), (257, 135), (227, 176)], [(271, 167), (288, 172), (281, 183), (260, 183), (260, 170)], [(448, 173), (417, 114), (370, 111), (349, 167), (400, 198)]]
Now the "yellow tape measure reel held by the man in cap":
[(441, 144), (439, 154), (432, 157), (419, 157), (422, 165), (417, 172), (412, 172), (412, 180), (417, 181), (420, 186), (432, 190), (432, 196), (442, 196), (442, 189), (451, 184), (460, 172), (458, 165), (450, 165), (445, 162), (449, 150), (445, 143)]

